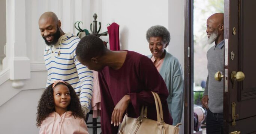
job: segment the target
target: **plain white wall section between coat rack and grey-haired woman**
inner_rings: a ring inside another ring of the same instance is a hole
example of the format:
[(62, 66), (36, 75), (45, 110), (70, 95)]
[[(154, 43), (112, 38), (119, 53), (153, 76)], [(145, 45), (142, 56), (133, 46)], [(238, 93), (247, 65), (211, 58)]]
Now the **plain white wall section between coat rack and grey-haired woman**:
[(106, 31), (108, 23), (120, 25), (121, 50), (148, 55), (147, 29), (153, 25), (168, 28), (168, 0), (103, 0), (102, 5), (102, 30)]

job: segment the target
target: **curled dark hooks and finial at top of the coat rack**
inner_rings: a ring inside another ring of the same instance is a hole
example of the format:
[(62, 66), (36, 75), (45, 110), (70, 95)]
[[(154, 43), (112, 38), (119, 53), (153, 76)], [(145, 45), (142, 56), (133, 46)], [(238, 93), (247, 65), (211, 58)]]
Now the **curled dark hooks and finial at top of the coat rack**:
[[(99, 33), (100, 32), (100, 29), (101, 29), (101, 23), (99, 22), (99, 29), (97, 30), (97, 14), (96, 13), (94, 13), (94, 15), (93, 15), (93, 18), (94, 18), (94, 20), (93, 20), (93, 24), (91, 23), (91, 25), (90, 25), (90, 30), (91, 30), (91, 33), (89, 33), (89, 34), (92, 34), (92, 35), (96, 35), (96, 36), (106, 36), (106, 35), (108, 35), (108, 31), (106, 31), (106, 32), (103, 32), (103, 33)], [(76, 23), (78, 23), (78, 27), (76, 27)], [(79, 31), (79, 32), (85, 32), (84, 30), (82, 30), (81, 28), (80, 28), (80, 23), (82, 23), (81, 21), (80, 22), (75, 22), (75, 28)], [(93, 25), (93, 29), (92, 29), (92, 25)]]

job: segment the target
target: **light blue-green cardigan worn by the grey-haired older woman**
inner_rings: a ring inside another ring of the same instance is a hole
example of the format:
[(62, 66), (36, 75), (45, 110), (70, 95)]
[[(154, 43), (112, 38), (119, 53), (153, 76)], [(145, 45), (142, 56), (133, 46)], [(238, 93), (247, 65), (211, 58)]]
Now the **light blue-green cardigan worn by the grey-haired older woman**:
[[(152, 58), (152, 55), (148, 55)], [(173, 125), (181, 122), (184, 103), (183, 71), (178, 59), (165, 50), (165, 58), (159, 73), (165, 80), (169, 96), (167, 98), (169, 112), (173, 118)]]

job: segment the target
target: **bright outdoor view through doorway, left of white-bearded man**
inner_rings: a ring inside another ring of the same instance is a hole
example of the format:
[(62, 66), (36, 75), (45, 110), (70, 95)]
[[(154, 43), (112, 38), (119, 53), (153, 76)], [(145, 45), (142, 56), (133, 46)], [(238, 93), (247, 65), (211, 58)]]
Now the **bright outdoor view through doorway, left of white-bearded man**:
[(206, 134), (207, 111), (202, 107), (201, 99), (208, 76), (207, 51), (215, 45), (207, 43), (206, 21), (214, 13), (224, 13), (224, 0), (193, 0), (193, 6), (194, 133)]

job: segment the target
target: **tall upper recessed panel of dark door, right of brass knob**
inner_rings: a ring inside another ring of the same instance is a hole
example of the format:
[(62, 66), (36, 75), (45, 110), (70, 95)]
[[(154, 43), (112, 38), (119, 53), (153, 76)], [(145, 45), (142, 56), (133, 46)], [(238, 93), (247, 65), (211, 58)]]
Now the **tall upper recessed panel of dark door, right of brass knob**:
[(245, 74), (245, 79), (239, 85), (241, 100), (256, 98), (256, 45), (255, 45), (255, 18), (256, 0), (240, 1), (240, 38), (238, 66)]

